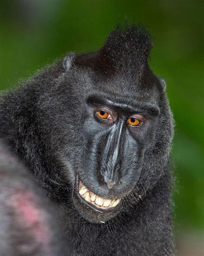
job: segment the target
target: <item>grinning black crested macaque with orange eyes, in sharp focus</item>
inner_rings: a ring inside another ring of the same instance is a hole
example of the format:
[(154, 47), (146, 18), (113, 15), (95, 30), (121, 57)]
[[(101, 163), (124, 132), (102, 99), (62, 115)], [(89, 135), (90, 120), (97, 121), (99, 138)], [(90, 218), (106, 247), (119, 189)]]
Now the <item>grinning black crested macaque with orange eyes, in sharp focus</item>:
[(118, 26), (0, 98), (0, 137), (66, 212), (68, 255), (173, 255), (173, 117), (151, 47)]

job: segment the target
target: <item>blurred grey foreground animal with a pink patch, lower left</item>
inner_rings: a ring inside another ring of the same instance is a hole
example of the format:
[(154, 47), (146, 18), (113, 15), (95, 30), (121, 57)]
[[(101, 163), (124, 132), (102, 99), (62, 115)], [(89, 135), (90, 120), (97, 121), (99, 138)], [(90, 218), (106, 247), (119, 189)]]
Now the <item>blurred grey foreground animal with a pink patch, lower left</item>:
[(34, 177), (0, 142), (0, 256), (67, 255), (61, 218)]

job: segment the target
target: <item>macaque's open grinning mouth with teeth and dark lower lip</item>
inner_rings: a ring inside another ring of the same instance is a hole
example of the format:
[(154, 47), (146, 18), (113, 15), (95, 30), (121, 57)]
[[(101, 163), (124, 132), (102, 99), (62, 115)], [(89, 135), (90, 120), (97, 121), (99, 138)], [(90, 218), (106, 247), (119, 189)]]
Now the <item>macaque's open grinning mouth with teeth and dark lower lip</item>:
[(101, 198), (91, 192), (80, 180), (78, 183), (78, 194), (83, 203), (100, 212), (116, 211), (121, 205), (121, 199), (110, 200)]

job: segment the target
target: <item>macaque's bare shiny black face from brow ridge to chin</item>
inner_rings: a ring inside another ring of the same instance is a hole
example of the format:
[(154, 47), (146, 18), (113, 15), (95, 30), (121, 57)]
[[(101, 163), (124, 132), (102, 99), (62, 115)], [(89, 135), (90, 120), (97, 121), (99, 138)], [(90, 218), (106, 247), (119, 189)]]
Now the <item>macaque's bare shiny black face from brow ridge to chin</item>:
[(158, 109), (97, 94), (85, 106), (75, 204), (84, 206), (88, 218), (91, 212), (89, 220), (105, 221), (120, 211), (139, 180)]

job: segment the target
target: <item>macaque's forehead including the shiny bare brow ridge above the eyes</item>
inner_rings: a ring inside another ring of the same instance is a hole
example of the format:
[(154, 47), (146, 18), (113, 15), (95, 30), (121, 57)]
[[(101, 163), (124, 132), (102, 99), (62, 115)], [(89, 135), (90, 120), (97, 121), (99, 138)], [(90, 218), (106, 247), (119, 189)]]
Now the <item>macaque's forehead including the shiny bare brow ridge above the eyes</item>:
[(107, 106), (127, 112), (159, 114), (159, 91), (153, 83), (143, 85), (128, 77), (94, 76), (87, 88), (87, 102), (96, 106)]

